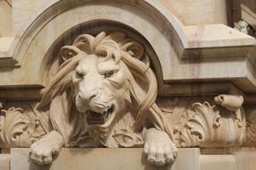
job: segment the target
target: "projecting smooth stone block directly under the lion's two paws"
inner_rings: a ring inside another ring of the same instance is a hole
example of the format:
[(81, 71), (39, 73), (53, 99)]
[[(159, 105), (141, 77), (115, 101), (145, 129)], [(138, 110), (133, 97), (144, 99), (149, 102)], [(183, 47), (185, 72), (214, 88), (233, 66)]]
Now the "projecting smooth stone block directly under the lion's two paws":
[[(11, 170), (198, 170), (199, 149), (179, 149), (173, 166), (156, 167), (146, 163), (142, 149), (62, 149), (50, 166), (31, 163), (29, 149), (12, 149)], [(63, 164), (63, 163), (66, 164)]]

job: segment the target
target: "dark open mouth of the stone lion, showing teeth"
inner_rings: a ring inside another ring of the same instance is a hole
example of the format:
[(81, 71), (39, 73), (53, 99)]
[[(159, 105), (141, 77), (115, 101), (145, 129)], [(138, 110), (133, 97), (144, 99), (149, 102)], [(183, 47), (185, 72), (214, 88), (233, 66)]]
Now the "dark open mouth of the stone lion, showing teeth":
[(111, 106), (108, 110), (102, 113), (95, 112), (93, 110), (86, 111), (86, 121), (89, 124), (103, 124), (106, 123), (114, 110), (114, 106)]

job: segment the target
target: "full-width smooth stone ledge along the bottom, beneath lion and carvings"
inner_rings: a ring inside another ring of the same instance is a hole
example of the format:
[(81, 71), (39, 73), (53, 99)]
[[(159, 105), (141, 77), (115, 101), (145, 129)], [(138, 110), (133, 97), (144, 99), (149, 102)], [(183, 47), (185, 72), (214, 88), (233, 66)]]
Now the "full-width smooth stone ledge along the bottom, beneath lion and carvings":
[[(142, 149), (62, 149), (49, 166), (38, 166), (29, 158), (30, 149), (12, 149), (0, 154), (1, 170), (254, 170), (256, 149), (179, 149), (172, 166), (151, 166)], [(2, 158), (1, 158), (2, 157)], [(4, 159), (3, 159), (4, 158)], [(9, 167), (9, 164), (11, 167)], [(3, 168), (4, 167), (4, 168)]]

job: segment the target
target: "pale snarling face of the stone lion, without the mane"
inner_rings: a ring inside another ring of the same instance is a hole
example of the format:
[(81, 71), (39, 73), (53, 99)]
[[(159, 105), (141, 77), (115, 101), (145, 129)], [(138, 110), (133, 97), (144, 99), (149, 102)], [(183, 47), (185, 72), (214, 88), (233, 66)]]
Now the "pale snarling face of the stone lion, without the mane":
[(72, 75), (75, 106), (86, 115), (87, 126), (110, 126), (130, 104), (128, 67), (113, 58), (87, 55)]

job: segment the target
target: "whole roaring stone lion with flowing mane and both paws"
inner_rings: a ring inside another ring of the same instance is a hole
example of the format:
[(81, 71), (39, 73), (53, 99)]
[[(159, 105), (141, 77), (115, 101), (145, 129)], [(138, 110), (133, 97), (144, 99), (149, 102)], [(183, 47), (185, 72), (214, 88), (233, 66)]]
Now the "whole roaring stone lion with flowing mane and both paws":
[(173, 163), (172, 132), (155, 104), (157, 81), (144, 47), (125, 34), (75, 38), (61, 49), (59, 72), (42, 91), (52, 131), (31, 145), (49, 164), (62, 147), (142, 147), (150, 164)]

